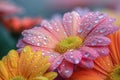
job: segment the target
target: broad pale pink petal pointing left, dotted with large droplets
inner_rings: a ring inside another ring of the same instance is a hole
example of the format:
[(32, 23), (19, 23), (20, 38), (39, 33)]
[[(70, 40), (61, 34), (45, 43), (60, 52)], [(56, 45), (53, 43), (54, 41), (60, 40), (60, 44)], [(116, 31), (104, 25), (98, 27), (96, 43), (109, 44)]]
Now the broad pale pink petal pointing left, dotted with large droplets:
[(57, 39), (42, 27), (25, 30), (22, 34), (23, 41), (33, 46), (55, 48), (58, 43)]

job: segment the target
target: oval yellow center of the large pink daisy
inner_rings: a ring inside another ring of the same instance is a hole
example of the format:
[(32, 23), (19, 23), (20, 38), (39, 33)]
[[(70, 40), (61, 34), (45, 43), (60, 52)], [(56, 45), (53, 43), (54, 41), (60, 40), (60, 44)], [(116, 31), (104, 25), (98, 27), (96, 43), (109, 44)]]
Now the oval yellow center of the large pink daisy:
[(55, 51), (64, 53), (70, 49), (77, 49), (82, 45), (82, 39), (78, 36), (70, 36), (61, 40), (55, 47)]

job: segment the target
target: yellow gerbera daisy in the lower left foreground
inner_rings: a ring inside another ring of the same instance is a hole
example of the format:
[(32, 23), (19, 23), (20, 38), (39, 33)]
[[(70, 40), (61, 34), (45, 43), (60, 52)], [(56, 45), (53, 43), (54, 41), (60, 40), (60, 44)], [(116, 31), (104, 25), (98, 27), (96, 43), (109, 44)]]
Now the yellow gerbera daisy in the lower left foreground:
[(20, 55), (11, 50), (0, 60), (0, 80), (53, 80), (57, 73), (46, 72), (49, 66), (48, 57), (34, 53), (29, 46)]

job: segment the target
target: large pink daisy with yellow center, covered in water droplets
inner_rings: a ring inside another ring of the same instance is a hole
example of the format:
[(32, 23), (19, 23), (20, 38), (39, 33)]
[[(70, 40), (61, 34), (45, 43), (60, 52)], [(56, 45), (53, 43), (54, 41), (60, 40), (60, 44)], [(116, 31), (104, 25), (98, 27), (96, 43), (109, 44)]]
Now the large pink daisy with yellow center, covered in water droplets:
[(68, 78), (75, 65), (92, 68), (93, 60), (109, 53), (110, 39), (106, 36), (118, 30), (112, 23), (114, 19), (100, 12), (65, 13), (63, 19), (54, 18), (43, 21), (40, 27), (25, 30), (17, 47), (29, 45), (34, 51), (42, 50), (50, 56), (50, 70)]

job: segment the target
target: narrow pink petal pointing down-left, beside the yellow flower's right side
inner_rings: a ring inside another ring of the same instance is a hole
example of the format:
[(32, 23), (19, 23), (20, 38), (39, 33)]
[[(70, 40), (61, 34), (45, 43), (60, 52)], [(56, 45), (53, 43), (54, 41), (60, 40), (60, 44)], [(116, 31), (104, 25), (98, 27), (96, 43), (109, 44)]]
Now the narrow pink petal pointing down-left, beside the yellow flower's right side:
[[(58, 56), (57, 58), (52, 58), (51, 62), (51, 66), (50, 66), (50, 70), (55, 70), (63, 61), (63, 56)], [(54, 60), (53, 60), (54, 59)]]

